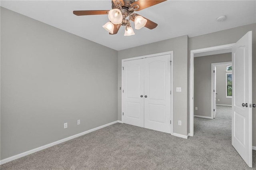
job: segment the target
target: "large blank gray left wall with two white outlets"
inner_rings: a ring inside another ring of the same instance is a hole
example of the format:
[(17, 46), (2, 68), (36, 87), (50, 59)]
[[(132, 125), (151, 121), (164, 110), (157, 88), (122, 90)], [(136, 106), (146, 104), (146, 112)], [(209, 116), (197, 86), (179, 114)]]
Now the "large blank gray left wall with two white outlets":
[(116, 121), (117, 56), (1, 8), (1, 159)]

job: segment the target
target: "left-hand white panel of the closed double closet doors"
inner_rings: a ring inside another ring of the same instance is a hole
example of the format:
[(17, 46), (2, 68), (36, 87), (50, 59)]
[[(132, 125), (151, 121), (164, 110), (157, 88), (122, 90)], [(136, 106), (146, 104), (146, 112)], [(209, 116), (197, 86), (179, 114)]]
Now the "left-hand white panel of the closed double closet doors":
[(144, 68), (142, 61), (124, 61), (123, 66), (123, 121), (130, 125), (144, 127)]

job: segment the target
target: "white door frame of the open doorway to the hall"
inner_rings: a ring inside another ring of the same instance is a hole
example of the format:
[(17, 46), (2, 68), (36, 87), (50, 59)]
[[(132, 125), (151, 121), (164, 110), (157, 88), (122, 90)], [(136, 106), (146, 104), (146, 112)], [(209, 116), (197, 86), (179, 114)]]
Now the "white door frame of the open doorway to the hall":
[(190, 51), (190, 95), (189, 95), (189, 116), (190, 116), (190, 133), (189, 136), (194, 136), (194, 55), (196, 53), (202, 53), (207, 51), (216, 51), (216, 50), (225, 50), (231, 49), (234, 43), (226, 44), (226, 45), (219, 45), (214, 47), (208, 48), (201, 48), (201, 49), (194, 49)]

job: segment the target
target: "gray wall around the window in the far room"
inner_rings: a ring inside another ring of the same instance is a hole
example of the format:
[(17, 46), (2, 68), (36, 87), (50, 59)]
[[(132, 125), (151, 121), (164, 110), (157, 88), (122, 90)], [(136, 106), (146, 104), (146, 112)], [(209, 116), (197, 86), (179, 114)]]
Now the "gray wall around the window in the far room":
[(216, 65), (216, 105), (232, 105), (232, 97), (226, 97), (226, 71), (229, 65)]

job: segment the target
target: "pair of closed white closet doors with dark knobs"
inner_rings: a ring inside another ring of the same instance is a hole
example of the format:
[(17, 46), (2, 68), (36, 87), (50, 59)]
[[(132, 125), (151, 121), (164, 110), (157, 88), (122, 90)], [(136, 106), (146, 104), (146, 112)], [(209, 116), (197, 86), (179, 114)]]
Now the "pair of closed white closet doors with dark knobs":
[(124, 61), (124, 123), (171, 133), (170, 54)]

